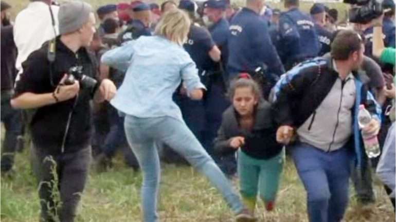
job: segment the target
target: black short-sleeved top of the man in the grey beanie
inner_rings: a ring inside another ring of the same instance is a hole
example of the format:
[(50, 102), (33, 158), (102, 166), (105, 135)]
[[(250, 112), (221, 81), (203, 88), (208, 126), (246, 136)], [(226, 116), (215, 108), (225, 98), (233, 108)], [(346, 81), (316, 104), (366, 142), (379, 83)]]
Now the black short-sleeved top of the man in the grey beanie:
[[(48, 43), (45, 43), (40, 49), (32, 52), (22, 64), (24, 72), (21, 74), (21, 79), (16, 82), (14, 97), (25, 92), (52, 93), (63, 75), (73, 66), (83, 66), (85, 75), (95, 76), (94, 58), (85, 48), (80, 48), (77, 53), (74, 53), (58, 37), (56, 59), (52, 65), (47, 59), (47, 49)], [(29, 123), (34, 145), (47, 149), (53, 154), (60, 153), (68, 116), (71, 112), (64, 152), (88, 146), (91, 138), (91, 107), (89, 105), (91, 98), (92, 91), (84, 88), (80, 82), (78, 97), (35, 109)]]

